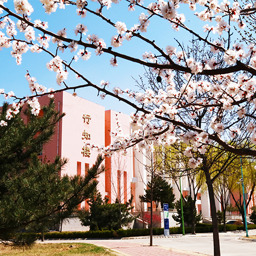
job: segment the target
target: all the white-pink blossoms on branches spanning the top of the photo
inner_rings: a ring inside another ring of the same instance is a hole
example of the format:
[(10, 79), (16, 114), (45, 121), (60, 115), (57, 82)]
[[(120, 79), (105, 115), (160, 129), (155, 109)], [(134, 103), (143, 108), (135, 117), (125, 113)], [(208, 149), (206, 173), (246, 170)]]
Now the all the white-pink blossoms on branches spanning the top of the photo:
[[(0, 5), (3, 7), (6, 2), (7, 0), (0, 0)], [(87, 12), (90, 12), (113, 26), (117, 33), (110, 36), (108, 41), (104, 41), (96, 34), (87, 35), (88, 28), (82, 23), (77, 24), (74, 28), (74, 34), (79, 35), (79, 39), (68, 38), (66, 28), (57, 33), (50, 33), (47, 22), (41, 22), (40, 19), (34, 20), (34, 23), (31, 22), (29, 16), (34, 10), (28, 0), (14, 0), (15, 12), (20, 16), (18, 18), (17, 15), (9, 13), (0, 18), (0, 50), (11, 48), (11, 55), (16, 58), (18, 65), (22, 61), (22, 55), (29, 50), (32, 53), (41, 51), (49, 53), (50, 44), (56, 44), (56, 53), (50, 52), (52, 59), (47, 63), (47, 68), (56, 73), (56, 82), (61, 86), (68, 78), (67, 69), (72, 70), (72, 61), (78, 61), (79, 58), (89, 60), (91, 52), (88, 48), (91, 48), (95, 50), (96, 55), (101, 55), (104, 52), (112, 54), (110, 65), (113, 67), (118, 67), (117, 58), (119, 56), (153, 67), (151, 70), (153, 76), (157, 77), (157, 82), (164, 84), (162, 87), (154, 88), (153, 86), (151, 89), (146, 88), (140, 92), (133, 92), (129, 89), (122, 90), (119, 87), (114, 87), (113, 92), (109, 91), (109, 94), (114, 94), (119, 99), (126, 95), (137, 104), (140, 111), (131, 114), (134, 131), (131, 135), (123, 135), (117, 118), (117, 130), (111, 134), (115, 138), (113, 144), (107, 147), (89, 144), (88, 146), (96, 147), (103, 153), (112, 154), (114, 151), (123, 151), (126, 154), (127, 147), (145, 148), (152, 152), (158, 145), (170, 145), (181, 139), (188, 145), (183, 154), (190, 158), (189, 166), (196, 168), (201, 164), (202, 159), (196, 159), (194, 153), (205, 154), (207, 145), (212, 143), (209, 140), (210, 136), (217, 135), (223, 140), (235, 139), (241, 136), (244, 129), (243, 132), (250, 137), (251, 143), (256, 144), (256, 125), (250, 120), (256, 109), (256, 79), (252, 76), (256, 69), (256, 48), (253, 44), (244, 46), (243, 44), (246, 42), (241, 44), (232, 43), (229, 39), (225, 40), (226, 34), (228, 38), (231, 37), (232, 23), (239, 29), (246, 27), (244, 19), (241, 18), (242, 10), (256, 7), (256, 5), (240, 6), (237, 1), (230, 3), (228, 0), (221, 2), (218, 0), (170, 0), (168, 2), (159, 0), (146, 7), (140, 0), (131, 0), (130, 11), (133, 11), (136, 6), (140, 6), (143, 7), (144, 12), (138, 16), (138, 23), (129, 29), (125, 23), (113, 22), (102, 14), (103, 8), (109, 9), (112, 4), (118, 4), (118, 0), (92, 0), (99, 4), (96, 11), (87, 7), (86, 0), (40, 0), (40, 2), (48, 14), (55, 12), (57, 8), (65, 9), (67, 5), (73, 5), (77, 8), (77, 15), (83, 18), (86, 17)], [(204, 38), (185, 26), (185, 15), (178, 13), (181, 4), (188, 5), (193, 12), (200, 6), (202, 11), (195, 12), (196, 16), (203, 22), (213, 22), (212, 26), (208, 24), (203, 26), (203, 30), (206, 32)], [(0, 9), (0, 13), (3, 13), (3, 10)], [(18, 19), (16, 23), (11, 19), (12, 16)], [(182, 28), (200, 41), (204, 41), (209, 47), (208, 55), (203, 54), (202, 57), (199, 56), (200, 54), (186, 52), (181, 44), (178, 50), (177, 46), (172, 45), (167, 45), (163, 50), (156, 45), (155, 41), (142, 36), (141, 33), (146, 33), (151, 28), (151, 22), (155, 17), (166, 19), (175, 31)], [(39, 31), (38, 34), (35, 31)], [(23, 33), (23, 39), (17, 39), (18, 33)], [(212, 39), (209, 39), (209, 35), (212, 35)], [(82, 36), (87, 36), (86, 40), (82, 40)], [(218, 36), (219, 38), (216, 39)], [(144, 53), (141, 55), (143, 60), (117, 54), (115, 53), (116, 49), (112, 50), (112, 47), (123, 46), (124, 40), (130, 41), (135, 37), (153, 47), (153, 50), (145, 49), (146, 51), (143, 51)], [(108, 47), (108, 44), (112, 47)], [(60, 58), (61, 55), (59, 55), (59, 52), (64, 53), (66, 49), (69, 49), (73, 56), (70, 64), (66, 60), (62, 60), (64, 58)], [(223, 72), (223, 74), (216, 72), (214, 75), (204, 77), (205, 74), (210, 74), (212, 71), (226, 67), (232, 68), (240, 62), (247, 67), (248, 73), (250, 73), (249, 69), (252, 70), (252, 75), (246, 74), (246, 72)], [(161, 68), (161, 65), (165, 65), (165, 68)], [(168, 65), (170, 68), (167, 69)], [(172, 67), (182, 71), (178, 78)], [(75, 71), (75, 73), (77, 78), (84, 79), (78, 72)], [(31, 77), (29, 73), (26, 74), (26, 79), (32, 94), (47, 92), (47, 88), (39, 85), (36, 78)], [(99, 92), (104, 91), (99, 94), (102, 99), (108, 94), (106, 93), (108, 86), (109, 82), (104, 80), (101, 80), (100, 86), (94, 85)], [(49, 97), (53, 97), (54, 90), (50, 88), (48, 92), (50, 92)], [(0, 93), (6, 98), (14, 97), (13, 92), (6, 94), (0, 90)], [(73, 95), (77, 95), (75, 90)], [(27, 98), (26, 100), (32, 108), (32, 113), (37, 115), (40, 111), (37, 99)], [(18, 113), (19, 104), (22, 103), (14, 104), (7, 111), (7, 121)], [(205, 116), (201, 117), (202, 113)], [(198, 127), (199, 117), (205, 127)], [(241, 125), (243, 120), (244, 127)], [(7, 122), (2, 120), (0, 125), (5, 126)]]

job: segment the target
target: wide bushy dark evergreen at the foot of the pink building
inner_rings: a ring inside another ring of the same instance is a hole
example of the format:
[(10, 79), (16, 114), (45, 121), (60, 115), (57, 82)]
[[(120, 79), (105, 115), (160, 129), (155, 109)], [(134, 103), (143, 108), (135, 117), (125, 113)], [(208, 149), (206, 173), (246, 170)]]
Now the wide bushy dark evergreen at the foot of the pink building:
[(124, 204), (119, 204), (118, 201), (109, 204), (108, 198), (102, 200), (100, 193), (95, 192), (88, 201), (90, 209), (81, 209), (78, 211), (78, 216), (82, 225), (90, 226), (90, 230), (117, 230), (133, 221), (133, 217), (129, 214), (132, 200), (133, 198)]

